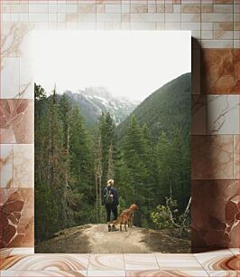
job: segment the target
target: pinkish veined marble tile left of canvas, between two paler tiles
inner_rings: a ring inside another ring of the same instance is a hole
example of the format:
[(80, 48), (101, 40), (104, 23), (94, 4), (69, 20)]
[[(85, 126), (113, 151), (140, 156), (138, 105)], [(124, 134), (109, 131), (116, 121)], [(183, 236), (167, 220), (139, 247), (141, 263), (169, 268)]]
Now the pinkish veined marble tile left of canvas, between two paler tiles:
[(33, 143), (33, 100), (0, 100), (0, 142)]

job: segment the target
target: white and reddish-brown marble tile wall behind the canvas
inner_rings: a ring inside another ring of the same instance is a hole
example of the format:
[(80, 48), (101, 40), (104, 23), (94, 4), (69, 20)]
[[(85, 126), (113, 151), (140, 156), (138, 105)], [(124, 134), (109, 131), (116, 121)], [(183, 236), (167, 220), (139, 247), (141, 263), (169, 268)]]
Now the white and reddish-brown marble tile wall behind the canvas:
[(0, 9), (2, 247), (33, 245), (37, 29), (192, 31), (192, 248), (240, 245), (238, 0), (1, 0)]

